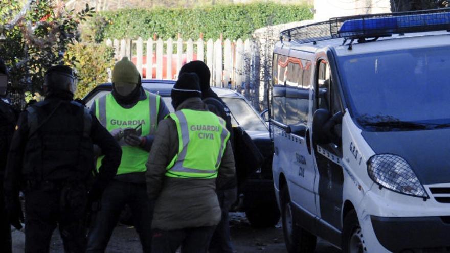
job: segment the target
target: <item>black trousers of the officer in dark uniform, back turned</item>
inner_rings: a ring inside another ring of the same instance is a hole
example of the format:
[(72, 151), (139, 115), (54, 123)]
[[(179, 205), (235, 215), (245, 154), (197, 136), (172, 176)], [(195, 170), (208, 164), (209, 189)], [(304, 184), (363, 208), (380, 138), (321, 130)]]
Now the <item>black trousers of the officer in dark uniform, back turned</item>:
[(49, 252), (53, 231), (59, 226), (64, 252), (86, 250), (84, 213), (61, 209), (61, 190), (25, 192), (25, 252)]

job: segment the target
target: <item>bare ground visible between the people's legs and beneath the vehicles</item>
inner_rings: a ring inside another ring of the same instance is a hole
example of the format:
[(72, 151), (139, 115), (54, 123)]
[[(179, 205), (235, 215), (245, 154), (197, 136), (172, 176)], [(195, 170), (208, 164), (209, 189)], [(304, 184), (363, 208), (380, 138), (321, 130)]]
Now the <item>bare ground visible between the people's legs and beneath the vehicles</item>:
[[(236, 252), (239, 253), (279, 253), (286, 252), (283, 239), (283, 228), (279, 223), (276, 227), (254, 229), (245, 219), (244, 213), (230, 213), (231, 233)], [(22, 231), (13, 231), (13, 252), (24, 251), (25, 235)], [(59, 234), (53, 234), (51, 252), (63, 252)], [(118, 225), (108, 244), (107, 253), (142, 252), (138, 235), (134, 227)], [(339, 253), (340, 251), (323, 240), (318, 240), (316, 253)]]

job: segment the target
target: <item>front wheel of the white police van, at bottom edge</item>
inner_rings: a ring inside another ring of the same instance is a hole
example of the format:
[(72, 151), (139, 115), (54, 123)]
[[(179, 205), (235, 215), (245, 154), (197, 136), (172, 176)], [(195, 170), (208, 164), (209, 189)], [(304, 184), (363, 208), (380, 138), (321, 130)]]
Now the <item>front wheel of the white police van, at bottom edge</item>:
[(363, 232), (359, 226), (358, 216), (355, 210), (351, 210), (344, 218), (344, 229), (342, 231), (343, 253), (365, 253)]

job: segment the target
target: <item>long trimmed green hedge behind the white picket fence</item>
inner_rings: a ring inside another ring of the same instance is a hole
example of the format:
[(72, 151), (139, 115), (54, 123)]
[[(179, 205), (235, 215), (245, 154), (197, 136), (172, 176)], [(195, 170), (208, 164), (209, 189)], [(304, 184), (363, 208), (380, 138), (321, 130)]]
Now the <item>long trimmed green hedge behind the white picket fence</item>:
[(107, 38), (147, 39), (157, 33), (159, 37), (217, 39), (247, 38), (258, 28), (268, 25), (311, 19), (307, 5), (283, 5), (277, 3), (251, 3), (214, 5), (197, 8), (176, 9), (122, 9), (99, 12), (90, 20), (89, 29), (83, 33), (101, 42)]

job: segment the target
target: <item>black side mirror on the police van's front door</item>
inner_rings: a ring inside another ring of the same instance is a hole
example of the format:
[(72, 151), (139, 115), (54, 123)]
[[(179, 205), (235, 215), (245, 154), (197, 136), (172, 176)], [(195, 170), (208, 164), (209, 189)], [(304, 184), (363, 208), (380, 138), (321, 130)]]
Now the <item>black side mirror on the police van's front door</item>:
[(341, 136), (334, 133), (334, 126), (342, 124), (342, 112), (333, 116), (327, 109), (317, 109), (312, 119), (312, 141), (314, 145), (334, 143), (342, 145)]

